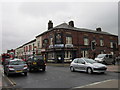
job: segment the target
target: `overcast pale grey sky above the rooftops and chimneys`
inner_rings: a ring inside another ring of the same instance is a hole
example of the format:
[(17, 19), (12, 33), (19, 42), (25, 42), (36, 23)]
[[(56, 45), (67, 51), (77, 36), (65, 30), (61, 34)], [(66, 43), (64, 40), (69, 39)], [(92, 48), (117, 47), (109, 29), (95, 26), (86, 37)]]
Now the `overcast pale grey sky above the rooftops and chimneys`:
[[(6, 0), (5, 0), (6, 1)], [(48, 21), (53, 26), (73, 20), (75, 27), (118, 35), (118, 2), (38, 2), (0, 3), (1, 53), (15, 49), (46, 31)], [(114, 1), (114, 0), (113, 0)]]

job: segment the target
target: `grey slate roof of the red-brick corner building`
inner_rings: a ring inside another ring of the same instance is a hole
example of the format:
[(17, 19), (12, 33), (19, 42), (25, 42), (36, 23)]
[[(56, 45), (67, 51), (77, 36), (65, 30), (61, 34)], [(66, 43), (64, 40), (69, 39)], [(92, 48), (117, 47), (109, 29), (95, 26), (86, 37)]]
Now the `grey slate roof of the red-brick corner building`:
[[(96, 30), (91, 30), (91, 29), (85, 29), (85, 28), (77, 28), (77, 27), (72, 27), (70, 25), (68, 25), (67, 23), (62, 23), (56, 27), (53, 27), (45, 32), (43, 32), (42, 34), (39, 34), (38, 36), (36, 37), (39, 37), (49, 31), (52, 31), (54, 29), (68, 29), (68, 30), (75, 30), (75, 31), (82, 31), (82, 32), (90, 32), (90, 33), (97, 33), (97, 34), (106, 34), (106, 35), (113, 35), (111, 33), (108, 33), (108, 32), (104, 32), (104, 31), (96, 31)], [(116, 35), (114, 35), (116, 36)]]

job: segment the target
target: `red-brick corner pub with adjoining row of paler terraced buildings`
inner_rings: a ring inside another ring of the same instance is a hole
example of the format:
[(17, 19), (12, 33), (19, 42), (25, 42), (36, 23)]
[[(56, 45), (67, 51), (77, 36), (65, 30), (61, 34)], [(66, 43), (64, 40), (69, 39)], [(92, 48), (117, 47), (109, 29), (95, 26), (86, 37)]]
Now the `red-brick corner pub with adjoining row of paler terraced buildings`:
[(101, 28), (77, 28), (74, 21), (53, 27), (50, 20), (47, 31), (15, 49), (19, 58), (43, 55), (47, 62), (55, 63), (71, 62), (77, 57), (95, 58), (100, 53), (118, 55), (118, 36)]

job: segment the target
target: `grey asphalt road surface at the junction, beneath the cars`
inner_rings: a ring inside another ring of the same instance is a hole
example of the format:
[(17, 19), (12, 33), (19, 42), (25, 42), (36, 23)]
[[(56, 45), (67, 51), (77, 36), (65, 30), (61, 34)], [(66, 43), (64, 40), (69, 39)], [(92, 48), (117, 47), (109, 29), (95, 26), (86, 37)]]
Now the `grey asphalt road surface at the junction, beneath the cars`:
[(118, 79), (118, 73), (87, 74), (71, 72), (69, 67), (47, 66), (46, 72), (31, 72), (28, 76), (15, 74), (9, 79), (16, 83), (16, 88), (74, 88), (95, 82)]

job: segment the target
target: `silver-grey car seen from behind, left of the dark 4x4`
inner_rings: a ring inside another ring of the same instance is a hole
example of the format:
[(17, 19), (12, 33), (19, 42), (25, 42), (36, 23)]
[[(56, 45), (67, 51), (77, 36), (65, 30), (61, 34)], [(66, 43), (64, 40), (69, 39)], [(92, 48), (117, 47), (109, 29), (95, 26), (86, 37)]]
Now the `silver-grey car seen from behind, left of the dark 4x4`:
[(4, 65), (4, 73), (7, 76), (15, 73), (24, 73), (24, 75), (27, 76), (27, 69), (28, 67), (26, 62), (21, 59), (8, 60)]

